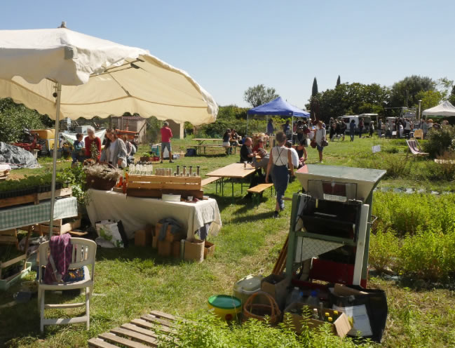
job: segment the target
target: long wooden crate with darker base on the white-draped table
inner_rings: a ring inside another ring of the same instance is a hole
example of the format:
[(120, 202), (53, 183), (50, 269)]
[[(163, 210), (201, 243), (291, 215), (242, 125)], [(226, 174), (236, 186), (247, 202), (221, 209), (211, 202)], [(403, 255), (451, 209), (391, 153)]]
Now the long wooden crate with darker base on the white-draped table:
[(128, 196), (160, 197), (162, 194), (180, 194), (203, 199), (201, 177), (165, 175), (129, 175), (126, 189)]

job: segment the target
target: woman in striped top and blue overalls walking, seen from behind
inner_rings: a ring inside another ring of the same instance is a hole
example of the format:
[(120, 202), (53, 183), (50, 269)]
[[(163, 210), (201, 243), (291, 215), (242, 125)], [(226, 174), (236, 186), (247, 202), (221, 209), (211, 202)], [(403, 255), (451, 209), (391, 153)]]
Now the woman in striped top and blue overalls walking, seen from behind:
[[(276, 205), (273, 218), (278, 217), (278, 212), (285, 208), (283, 197), (289, 182), (289, 171), (287, 163), (292, 163), (291, 152), (285, 147), (286, 135), (284, 132), (277, 132), (275, 135), (278, 146), (272, 148), (270, 152), (269, 164), (267, 164), (266, 182), (269, 183), (269, 175), (272, 172), (273, 186), (276, 191)], [(273, 166), (273, 169), (272, 169)], [(291, 175), (294, 176), (294, 166), (290, 166)]]

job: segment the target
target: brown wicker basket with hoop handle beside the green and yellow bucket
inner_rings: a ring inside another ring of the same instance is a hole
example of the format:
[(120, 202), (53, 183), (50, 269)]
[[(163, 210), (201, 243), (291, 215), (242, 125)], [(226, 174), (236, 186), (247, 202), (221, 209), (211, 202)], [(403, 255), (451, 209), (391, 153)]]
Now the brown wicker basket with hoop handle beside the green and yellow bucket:
[[(261, 300), (264, 299), (264, 301), (262, 302), (269, 302), (269, 304), (254, 303), (254, 298), (257, 296), (263, 297)], [(264, 293), (264, 291), (258, 291), (248, 297), (247, 302), (245, 302), (245, 305), (243, 306), (242, 321), (247, 321), (251, 318), (259, 321), (266, 321), (266, 316), (269, 316), (268, 323), (270, 325), (278, 324), (281, 319), (280, 308), (271, 295)]]

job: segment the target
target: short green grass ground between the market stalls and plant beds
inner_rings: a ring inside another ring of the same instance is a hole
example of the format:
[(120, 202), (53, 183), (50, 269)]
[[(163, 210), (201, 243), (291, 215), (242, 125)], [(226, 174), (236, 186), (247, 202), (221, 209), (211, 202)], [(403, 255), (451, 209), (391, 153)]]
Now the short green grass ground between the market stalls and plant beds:
[[(348, 140), (348, 138), (346, 138)], [(193, 143), (191, 138), (175, 140), (175, 153)], [(379, 153), (372, 154), (372, 145), (381, 145)], [(140, 148), (138, 153), (147, 150)], [(162, 168), (175, 168), (177, 164), (201, 166), (201, 173), (238, 161), (236, 155), (226, 156), (223, 149), (208, 150), (208, 156), (186, 157), (174, 164), (163, 163)], [(318, 161), (315, 149), (309, 149), (308, 163)], [(48, 159), (40, 160), (43, 168), (15, 170), (13, 178), (50, 170)], [(59, 163), (59, 168), (69, 166)], [(358, 139), (355, 142), (330, 142), (324, 150), (324, 163), (320, 165), (360, 166), (395, 170), (392, 178), (379, 184), (381, 189), (426, 189), (451, 192), (455, 198), (454, 182), (434, 180), (423, 175), (429, 160), (413, 159), (407, 155), (405, 140)], [(403, 166), (409, 168), (402, 169)], [(397, 168), (401, 171), (396, 171)], [(402, 176), (400, 176), (402, 173)], [(289, 185), (286, 196), (299, 190), (296, 180)], [(269, 192), (259, 205), (240, 199), (240, 185), (234, 195), (230, 187), (225, 196), (215, 195), (215, 184), (205, 193), (217, 199), (223, 227), (218, 236), (210, 237), (215, 243), (215, 256), (201, 264), (158, 257), (151, 248), (130, 247), (124, 250), (97, 251), (95, 267), (95, 295), (90, 304), (90, 330), (85, 326), (50, 326), (43, 335), (39, 332), (39, 311), (36, 299), (0, 309), (0, 345), (8, 347), (86, 347), (90, 337), (121, 325), (141, 314), (159, 309), (170, 314), (184, 314), (206, 307), (213, 294), (230, 294), (233, 283), (247, 274), (270, 274), (283, 246), (290, 219), (290, 202), (280, 218), (272, 217), (275, 201)], [(245, 192), (244, 192), (245, 194)], [(454, 199), (455, 204), (455, 199)], [(27, 279), (32, 279), (30, 274)], [(388, 322), (381, 347), (454, 347), (455, 297), (447, 287), (413, 290), (393, 280), (371, 277), (369, 286), (386, 290), (388, 296)], [(1, 294), (0, 305), (10, 302), (20, 285)], [(79, 302), (78, 298), (67, 301)], [(79, 300), (81, 300), (79, 298)], [(77, 309), (79, 311), (79, 309)], [(80, 313), (80, 312), (76, 312)], [(49, 311), (51, 314), (51, 311)], [(55, 311), (53, 314), (63, 315)], [(8, 343), (6, 343), (8, 342)]]

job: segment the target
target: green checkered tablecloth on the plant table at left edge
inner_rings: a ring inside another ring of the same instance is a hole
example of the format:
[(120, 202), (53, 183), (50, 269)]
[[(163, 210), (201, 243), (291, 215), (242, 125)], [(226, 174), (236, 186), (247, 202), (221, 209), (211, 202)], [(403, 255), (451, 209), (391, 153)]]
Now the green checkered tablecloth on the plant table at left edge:
[[(36, 206), (19, 206), (0, 210), (0, 231), (22, 226), (48, 222), (50, 214), (50, 200)], [(74, 217), (77, 215), (76, 197), (57, 198), (54, 204), (54, 220)]]

